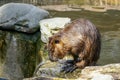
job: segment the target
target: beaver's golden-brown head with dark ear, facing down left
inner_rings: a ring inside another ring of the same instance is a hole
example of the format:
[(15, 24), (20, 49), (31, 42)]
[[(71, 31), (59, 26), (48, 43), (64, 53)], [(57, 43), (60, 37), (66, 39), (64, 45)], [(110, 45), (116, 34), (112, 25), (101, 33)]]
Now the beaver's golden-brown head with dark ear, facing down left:
[(49, 38), (47, 48), (49, 52), (49, 59), (51, 61), (58, 61), (65, 56), (63, 46), (64, 44), (61, 40), (61, 35), (55, 35)]

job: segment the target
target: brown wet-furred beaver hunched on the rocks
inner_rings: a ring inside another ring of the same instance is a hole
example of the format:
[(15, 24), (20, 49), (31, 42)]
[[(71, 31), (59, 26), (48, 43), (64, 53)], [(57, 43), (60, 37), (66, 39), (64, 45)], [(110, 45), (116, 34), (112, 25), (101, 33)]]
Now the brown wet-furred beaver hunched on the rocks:
[(63, 59), (66, 54), (73, 56), (73, 61), (66, 61), (62, 68), (72, 72), (77, 68), (96, 65), (101, 50), (99, 30), (89, 20), (79, 18), (65, 25), (65, 28), (49, 37), (48, 54), (51, 61)]

